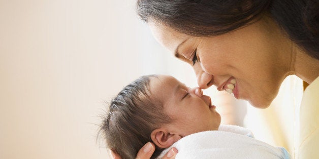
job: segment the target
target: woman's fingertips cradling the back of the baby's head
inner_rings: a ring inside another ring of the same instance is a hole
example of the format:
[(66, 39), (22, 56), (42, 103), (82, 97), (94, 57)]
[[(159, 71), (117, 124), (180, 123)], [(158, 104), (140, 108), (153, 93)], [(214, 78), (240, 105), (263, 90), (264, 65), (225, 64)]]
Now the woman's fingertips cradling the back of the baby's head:
[[(153, 143), (146, 143), (137, 153), (136, 159), (149, 159), (155, 151), (155, 146)], [(175, 159), (177, 149), (175, 147), (171, 148), (163, 157), (163, 159)], [(114, 159), (121, 159), (121, 157), (110, 150), (111, 156)]]

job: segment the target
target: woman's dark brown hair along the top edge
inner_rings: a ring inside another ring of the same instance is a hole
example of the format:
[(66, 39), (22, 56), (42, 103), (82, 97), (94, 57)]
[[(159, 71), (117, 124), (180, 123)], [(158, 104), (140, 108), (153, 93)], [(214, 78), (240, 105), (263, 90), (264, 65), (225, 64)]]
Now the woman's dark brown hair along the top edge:
[(193, 36), (214, 36), (270, 15), (301, 49), (319, 59), (317, 0), (138, 0), (138, 15)]

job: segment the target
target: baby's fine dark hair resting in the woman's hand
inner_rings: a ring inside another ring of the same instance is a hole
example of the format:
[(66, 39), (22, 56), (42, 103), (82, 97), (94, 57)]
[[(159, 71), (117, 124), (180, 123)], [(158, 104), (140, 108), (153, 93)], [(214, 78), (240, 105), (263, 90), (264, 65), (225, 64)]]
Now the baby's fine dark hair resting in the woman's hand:
[[(135, 158), (139, 149), (152, 141), (151, 132), (171, 122), (171, 118), (164, 112), (162, 101), (150, 96), (150, 80), (157, 77), (141, 76), (111, 100), (99, 135), (105, 138), (107, 147), (122, 159)], [(152, 158), (162, 151), (156, 146)]]

